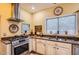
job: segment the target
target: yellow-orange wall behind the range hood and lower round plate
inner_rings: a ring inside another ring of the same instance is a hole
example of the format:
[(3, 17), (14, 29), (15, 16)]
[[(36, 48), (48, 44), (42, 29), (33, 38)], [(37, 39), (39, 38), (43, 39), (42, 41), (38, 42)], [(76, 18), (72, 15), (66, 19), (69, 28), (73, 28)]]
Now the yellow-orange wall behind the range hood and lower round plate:
[[(21, 23), (16, 23), (16, 22), (9, 22), (7, 21), (8, 18), (11, 17), (11, 10), (12, 10), (12, 6), (11, 4), (9, 3), (5, 3), (5, 4), (1, 4), (0, 3), (0, 16), (1, 16), (1, 19), (0, 19), (0, 36), (1, 37), (4, 37), (4, 35), (7, 37), (7, 36), (14, 36), (14, 35), (21, 35)], [(31, 14), (28, 13), (28, 12), (25, 12), (24, 10), (20, 10), (20, 17), (21, 19), (23, 19), (25, 21), (25, 23), (28, 23), (28, 24), (32, 24), (31, 23)], [(12, 23), (15, 23), (19, 26), (19, 31), (17, 33), (10, 33), (9, 31), (9, 25), (12, 24)]]

